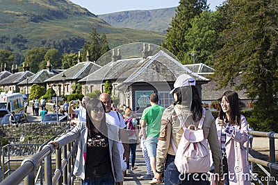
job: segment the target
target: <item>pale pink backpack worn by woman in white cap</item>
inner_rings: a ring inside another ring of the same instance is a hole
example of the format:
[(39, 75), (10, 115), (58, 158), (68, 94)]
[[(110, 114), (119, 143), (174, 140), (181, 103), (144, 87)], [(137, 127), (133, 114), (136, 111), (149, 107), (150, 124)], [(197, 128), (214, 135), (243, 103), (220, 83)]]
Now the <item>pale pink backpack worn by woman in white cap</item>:
[(186, 127), (181, 112), (175, 106), (174, 111), (177, 113), (180, 123), (183, 125), (183, 134), (179, 146), (176, 148), (174, 141), (172, 146), (176, 152), (174, 164), (180, 173), (207, 173), (210, 169), (210, 155), (208, 150), (208, 143), (204, 139), (202, 125), (204, 123), (206, 109), (203, 108), (202, 118), (196, 128), (195, 125)]

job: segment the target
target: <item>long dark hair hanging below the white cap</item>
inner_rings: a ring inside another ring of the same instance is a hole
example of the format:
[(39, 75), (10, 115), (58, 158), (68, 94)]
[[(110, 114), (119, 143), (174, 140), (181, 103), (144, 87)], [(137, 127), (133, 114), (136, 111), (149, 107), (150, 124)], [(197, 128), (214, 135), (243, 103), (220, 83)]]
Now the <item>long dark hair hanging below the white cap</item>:
[(191, 105), (190, 112), (193, 113), (193, 120), (199, 121), (202, 117), (202, 100), (199, 97), (198, 89), (195, 86), (186, 86), (179, 87), (174, 90), (174, 93), (177, 94), (177, 101), (174, 105), (177, 104), (188, 104)]

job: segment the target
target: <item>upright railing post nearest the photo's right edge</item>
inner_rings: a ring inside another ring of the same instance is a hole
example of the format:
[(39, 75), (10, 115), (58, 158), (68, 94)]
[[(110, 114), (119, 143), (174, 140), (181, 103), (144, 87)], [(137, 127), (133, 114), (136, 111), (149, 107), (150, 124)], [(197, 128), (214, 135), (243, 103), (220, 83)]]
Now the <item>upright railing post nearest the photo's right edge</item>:
[[(270, 141), (270, 163), (275, 164), (275, 132), (268, 132), (268, 138)], [(270, 168), (270, 185), (275, 185), (276, 180), (276, 170), (272, 168), (272, 166), (268, 166)]]

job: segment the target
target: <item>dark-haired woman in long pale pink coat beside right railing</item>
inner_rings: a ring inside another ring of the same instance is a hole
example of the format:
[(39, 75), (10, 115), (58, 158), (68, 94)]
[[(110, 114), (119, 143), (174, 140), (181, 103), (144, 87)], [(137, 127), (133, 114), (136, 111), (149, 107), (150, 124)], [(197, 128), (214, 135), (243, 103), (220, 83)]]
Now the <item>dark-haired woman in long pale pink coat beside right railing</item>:
[(221, 98), (220, 105), (220, 112), (215, 123), (222, 155), (227, 156), (227, 171), (224, 171), (224, 184), (251, 184), (248, 154), (243, 146), (243, 143), (248, 141), (249, 133), (246, 118), (240, 115), (236, 91), (226, 91)]

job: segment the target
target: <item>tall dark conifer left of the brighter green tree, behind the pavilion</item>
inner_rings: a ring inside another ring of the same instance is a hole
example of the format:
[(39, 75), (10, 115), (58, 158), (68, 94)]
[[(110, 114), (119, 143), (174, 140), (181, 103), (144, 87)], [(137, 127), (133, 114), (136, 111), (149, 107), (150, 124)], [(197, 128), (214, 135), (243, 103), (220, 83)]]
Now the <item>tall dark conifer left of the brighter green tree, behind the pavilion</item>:
[(181, 0), (176, 9), (171, 26), (167, 29), (165, 42), (162, 46), (171, 51), (184, 64), (188, 58), (188, 46), (185, 35), (192, 27), (191, 19), (207, 10), (206, 0)]

